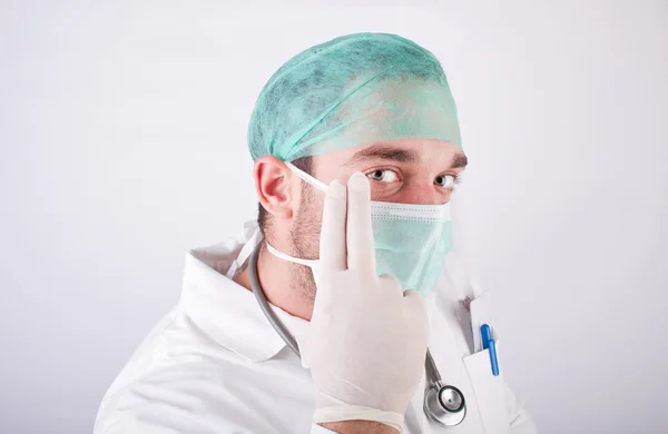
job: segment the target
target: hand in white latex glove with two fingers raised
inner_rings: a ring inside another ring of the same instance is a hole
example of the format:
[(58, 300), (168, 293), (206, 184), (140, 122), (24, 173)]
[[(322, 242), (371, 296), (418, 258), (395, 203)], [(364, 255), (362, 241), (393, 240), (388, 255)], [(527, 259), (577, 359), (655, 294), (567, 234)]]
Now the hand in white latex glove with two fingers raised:
[(429, 323), (415, 290), (376, 276), (370, 203), (363, 174), (351, 177), (347, 195), (337, 181), (327, 189), (317, 294), (301, 352), (317, 389), (315, 423), (366, 420), (401, 431), (424, 373)]

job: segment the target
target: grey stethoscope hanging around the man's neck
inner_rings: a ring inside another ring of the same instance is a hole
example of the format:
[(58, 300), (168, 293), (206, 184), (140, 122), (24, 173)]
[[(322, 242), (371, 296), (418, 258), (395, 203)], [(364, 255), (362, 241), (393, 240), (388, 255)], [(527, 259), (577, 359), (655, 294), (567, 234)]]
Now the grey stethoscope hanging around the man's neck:
[[(262, 244), (258, 243), (253, 250), (248, 264), (250, 287), (253, 288), (257, 304), (262, 308), (262, 312), (269, 324), (272, 324), (278, 336), (281, 336), (297, 357), (301, 357), (297, 342), (289, 332), (287, 332), (285, 325), (278, 319), (274, 310), (272, 310), (264, 292), (262, 290), (262, 286), (259, 285), (259, 279), (257, 278), (257, 257), (261, 245)], [(466, 415), (466, 402), (464, 401), (464, 395), (459, 388), (443, 384), (429, 348), (426, 349), (424, 371), (429, 384), (429, 387), (424, 392), (424, 414), (426, 414), (431, 421), (444, 427), (459, 425)]]

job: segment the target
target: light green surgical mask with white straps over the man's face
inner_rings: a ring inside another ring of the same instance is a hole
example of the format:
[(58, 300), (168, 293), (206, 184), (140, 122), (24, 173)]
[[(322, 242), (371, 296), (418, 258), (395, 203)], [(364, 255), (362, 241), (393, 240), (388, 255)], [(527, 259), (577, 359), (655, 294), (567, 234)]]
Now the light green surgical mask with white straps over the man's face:
[[(327, 190), (321, 180), (285, 164), (306, 183)], [(445, 255), (452, 248), (450, 205), (372, 201), (371, 224), (377, 275), (391, 274), (404, 290), (415, 289), (422, 296), (432, 292), (441, 276)], [(295, 258), (271, 245), (267, 247), (279, 258), (310, 267), (317, 286), (318, 260)]]

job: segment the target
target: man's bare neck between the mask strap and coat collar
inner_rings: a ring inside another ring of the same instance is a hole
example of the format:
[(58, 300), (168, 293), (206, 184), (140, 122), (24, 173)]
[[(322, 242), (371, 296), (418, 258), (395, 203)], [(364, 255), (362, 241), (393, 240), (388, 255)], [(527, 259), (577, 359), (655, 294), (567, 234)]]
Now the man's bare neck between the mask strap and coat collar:
[[(257, 279), (267, 302), (293, 316), (311, 320), (313, 297), (308, 296), (307, 292), (293, 286), (294, 276), (298, 273), (297, 267), (307, 268), (275, 257), (267, 250), (266, 244), (263, 241), (257, 257)], [(249, 267), (246, 267), (235, 277), (234, 282), (253, 290), (249, 273)]]

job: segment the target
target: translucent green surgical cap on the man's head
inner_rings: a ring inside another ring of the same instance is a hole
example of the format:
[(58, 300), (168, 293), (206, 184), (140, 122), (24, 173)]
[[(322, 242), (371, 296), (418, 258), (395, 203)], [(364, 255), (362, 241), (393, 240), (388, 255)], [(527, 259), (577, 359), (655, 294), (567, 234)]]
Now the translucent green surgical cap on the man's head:
[(248, 126), (254, 160), (292, 161), (409, 137), (462, 146), (439, 60), (385, 33), (340, 37), (289, 59), (262, 89)]

